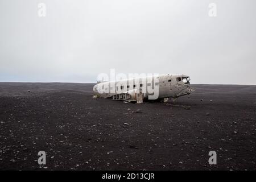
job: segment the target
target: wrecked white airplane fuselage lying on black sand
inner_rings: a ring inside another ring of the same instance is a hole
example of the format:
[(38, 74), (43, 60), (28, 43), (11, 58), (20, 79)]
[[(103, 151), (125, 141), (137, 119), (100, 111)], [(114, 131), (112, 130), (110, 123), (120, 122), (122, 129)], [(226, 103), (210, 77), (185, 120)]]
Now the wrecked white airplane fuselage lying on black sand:
[[(93, 86), (94, 96), (105, 98), (123, 94), (123, 98), (126, 98), (123, 100), (136, 100), (135, 96), (124, 96), (136, 92), (143, 93), (143, 98), (158, 99), (184, 96), (190, 94), (192, 89), (189, 86), (189, 76), (171, 74), (100, 82)], [(151, 97), (154, 95), (157, 97)]]

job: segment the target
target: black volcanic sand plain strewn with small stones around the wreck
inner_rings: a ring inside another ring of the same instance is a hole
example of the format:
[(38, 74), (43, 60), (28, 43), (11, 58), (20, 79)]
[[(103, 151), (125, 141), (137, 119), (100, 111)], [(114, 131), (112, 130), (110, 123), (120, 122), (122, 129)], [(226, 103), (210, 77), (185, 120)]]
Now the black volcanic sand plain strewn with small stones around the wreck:
[(190, 97), (143, 104), (92, 87), (0, 83), (0, 169), (256, 169), (256, 86), (192, 85)]

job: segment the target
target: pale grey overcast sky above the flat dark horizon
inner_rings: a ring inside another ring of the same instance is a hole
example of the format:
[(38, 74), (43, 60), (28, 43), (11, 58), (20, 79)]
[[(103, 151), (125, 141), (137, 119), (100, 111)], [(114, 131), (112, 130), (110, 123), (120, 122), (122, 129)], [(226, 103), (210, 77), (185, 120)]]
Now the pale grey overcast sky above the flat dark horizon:
[[(38, 3), (46, 17), (38, 16)], [(217, 16), (208, 15), (216, 3)], [(0, 81), (184, 73), (256, 84), (255, 0), (0, 0)]]

